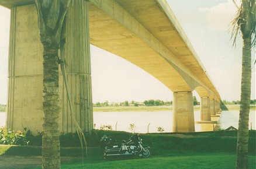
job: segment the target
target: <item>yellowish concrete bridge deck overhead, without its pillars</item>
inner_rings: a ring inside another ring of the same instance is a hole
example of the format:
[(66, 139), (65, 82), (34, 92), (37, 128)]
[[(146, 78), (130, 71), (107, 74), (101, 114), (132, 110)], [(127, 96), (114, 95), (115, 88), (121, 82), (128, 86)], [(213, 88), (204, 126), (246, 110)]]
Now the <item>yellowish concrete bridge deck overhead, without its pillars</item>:
[[(33, 2), (0, 0), (0, 5), (12, 8)], [(184, 85), (194, 79), (221, 100), (166, 1), (91, 0), (89, 25), (91, 44), (127, 59), (172, 91), (194, 90), (196, 86)]]

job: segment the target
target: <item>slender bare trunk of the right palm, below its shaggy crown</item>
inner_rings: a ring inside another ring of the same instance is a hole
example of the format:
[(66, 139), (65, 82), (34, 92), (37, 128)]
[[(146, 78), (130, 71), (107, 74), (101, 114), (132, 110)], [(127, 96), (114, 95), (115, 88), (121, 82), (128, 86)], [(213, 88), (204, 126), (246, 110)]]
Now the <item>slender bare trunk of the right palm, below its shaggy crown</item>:
[(240, 117), (236, 168), (248, 168), (248, 127), (251, 99), (251, 38), (243, 38)]

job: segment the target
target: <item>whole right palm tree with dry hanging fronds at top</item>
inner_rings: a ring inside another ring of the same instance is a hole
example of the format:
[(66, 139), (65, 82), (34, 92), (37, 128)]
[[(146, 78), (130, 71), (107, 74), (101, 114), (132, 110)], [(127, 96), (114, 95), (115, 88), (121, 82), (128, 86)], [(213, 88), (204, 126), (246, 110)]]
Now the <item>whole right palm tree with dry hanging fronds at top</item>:
[[(233, 0), (234, 2), (234, 0)], [(236, 4), (236, 2), (234, 2)], [(236, 5), (237, 6), (237, 5)], [(256, 45), (256, 8), (255, 0), (242, 0), (237, 15), (232, 20), (231, 38), (238, 33), (243, 37), (241, 102), (237, 134), (236, 168), (248, 168), (248, 122), (251, 98), (251, 48)]]

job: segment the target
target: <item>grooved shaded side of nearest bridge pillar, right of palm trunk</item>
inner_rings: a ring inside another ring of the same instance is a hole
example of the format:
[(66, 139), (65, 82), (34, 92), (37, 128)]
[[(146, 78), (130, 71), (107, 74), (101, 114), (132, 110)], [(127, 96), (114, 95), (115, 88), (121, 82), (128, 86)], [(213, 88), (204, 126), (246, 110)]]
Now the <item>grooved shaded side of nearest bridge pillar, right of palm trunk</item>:
[[(67, 80), (75, 118), (83, 131), (93, 129), (91, 56), (89, 41), (88, 2), (77, 0), (70, 4), (65, 28), (64, 58)], [(75, 132), (75, 124), (68, 105), (63, 76), (60, 78), (60, 131)]]

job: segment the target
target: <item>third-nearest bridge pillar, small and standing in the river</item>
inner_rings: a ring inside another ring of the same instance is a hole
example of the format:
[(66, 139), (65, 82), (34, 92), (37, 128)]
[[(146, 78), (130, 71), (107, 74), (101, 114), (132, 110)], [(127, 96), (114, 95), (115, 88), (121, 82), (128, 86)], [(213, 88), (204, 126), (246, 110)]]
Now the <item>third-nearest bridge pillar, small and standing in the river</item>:
[(209, 97), (201, 97), (200, 120), (201, 121), (210, 121), (210, 99), (209, 99)]

